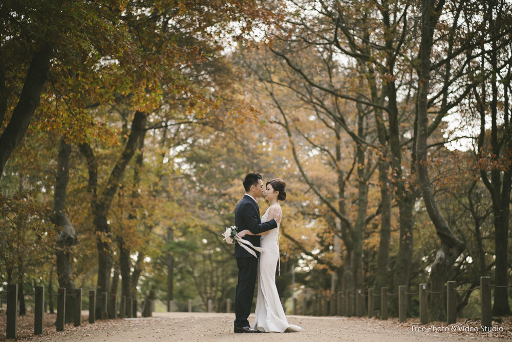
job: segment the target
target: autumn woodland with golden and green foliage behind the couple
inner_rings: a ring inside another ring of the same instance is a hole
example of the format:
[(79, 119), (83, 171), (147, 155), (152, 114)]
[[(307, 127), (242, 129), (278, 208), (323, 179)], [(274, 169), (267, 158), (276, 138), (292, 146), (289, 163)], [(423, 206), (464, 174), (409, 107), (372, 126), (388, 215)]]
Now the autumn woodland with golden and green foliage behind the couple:
[[(287, 184), (285, 298), (508, 286), (511, 14), (504, 0), (2, 2), (0, 288), (57, 276), (224, 310), (237, 269), (221, 233), (249, 172)], [(494, 291), (495, 315), (510, 298)]]

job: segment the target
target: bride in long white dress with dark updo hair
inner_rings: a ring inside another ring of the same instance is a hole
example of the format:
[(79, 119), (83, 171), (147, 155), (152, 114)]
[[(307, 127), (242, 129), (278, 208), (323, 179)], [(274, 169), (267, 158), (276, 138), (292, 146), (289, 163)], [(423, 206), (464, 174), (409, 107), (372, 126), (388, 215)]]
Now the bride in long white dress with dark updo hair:
[[(274, 213), (281, 209), (280, 200), (285, 200), (286, 184), (283, 179), (275, 178), (266, 184), (265, 199), (270, 207), (261, 218), (261, 222), (267, 222), (274, 217)], [(288, 324), (278, 289), (275, 287), (275, 266), (279, 263), (279, 226), (263, 232), (261, 247), (265, 250), (260, 254), (258, 263), (258, 298), (256, 299), (256, 319), (252, 329), (261, 332), (299, 332), (301, 327)], [(238, 233), (240, 237), (253, 235), (249, 230)], [(281, 271), (281, 265), (279, 267)]]

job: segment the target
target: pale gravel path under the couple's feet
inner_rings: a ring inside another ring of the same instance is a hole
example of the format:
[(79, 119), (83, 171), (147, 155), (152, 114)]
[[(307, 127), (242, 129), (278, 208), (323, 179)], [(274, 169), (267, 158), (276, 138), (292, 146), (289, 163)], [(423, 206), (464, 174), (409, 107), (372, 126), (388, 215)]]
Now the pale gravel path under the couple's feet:
[[(470, 330), (479, 323), (460, 320), (455, 327), (455, 332), (441, 332), (443, 329), (452, 329), (452, 326), (444, 328), (443, 325), (432, 324), (428, 331), (414, 331), (412, 325), (418, 325), (418, 321), (410, 319), (407, 323), (398, 324), (396, 320), (377, 320), (354, 317), (311, 317), (311, 316), (287, 316), (290, 324), (303, 328), (299, 333), (269, 333), (269, 334), (234, 334), (234, 314), (225, 313), (153, 313), (151, 318), (131, 318), (98, 321), (94, 325), (84, 323), (81, 327), (66, 327), (65, 331), (46, 331), (44, 335), (32, 336), (19, 340), (38, 341), (501, 341), (510, 338), (512, 327), (507, 323), (499, 327), (502, 333), (493, 332), (464, 332), (460, 329)], [(249, 317), (251, 322), (253, 315)], [(449, 328), (448, 328), (449, 327)], [(498, 327), (498, 326), (497, 326)], [(432, 332), (433, 329), (438, 332)], [(502, 338), (493, 337), (501, 336)]]

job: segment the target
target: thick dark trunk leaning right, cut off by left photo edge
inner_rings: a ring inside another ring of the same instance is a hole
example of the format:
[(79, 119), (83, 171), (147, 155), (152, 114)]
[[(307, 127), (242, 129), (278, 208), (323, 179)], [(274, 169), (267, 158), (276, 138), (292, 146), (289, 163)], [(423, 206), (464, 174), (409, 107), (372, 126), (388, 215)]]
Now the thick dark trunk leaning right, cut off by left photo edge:
[[(47, 43), (32, 57), (18, 103), (12, 111), (9, 124), (0, 136), (0, 178), (7, 160), (25, 136), (30, 120), (39, 106), (42, 87), (48, 79), (52, 51), (53, 46)], [(4, 117), (5, 111), (0, 116)]]

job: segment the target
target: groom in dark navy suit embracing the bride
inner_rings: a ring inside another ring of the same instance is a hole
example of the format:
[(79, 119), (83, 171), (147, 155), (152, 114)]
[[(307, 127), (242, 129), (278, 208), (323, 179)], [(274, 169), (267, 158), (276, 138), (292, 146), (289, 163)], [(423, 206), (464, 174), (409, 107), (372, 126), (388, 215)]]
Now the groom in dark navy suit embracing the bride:
[[(263, 180), (259, 173), (249, 173), (244, 179), (245, 195), (234, 209), (234, 225), (238, 231), (244, 229), (250, 230), (252, 234), (259, 234), (267, 230), (278, 227), (274, 219), (269, 222), (261, 223), (260, 208), (256, 203), (256, 198), (263, 194)], [(275, 218), (279, 221), (283, 213), (281, 210), (275, 213)], [(243, 237), (255, 247), (260, 247), (260, 236), (245, 235)], [(250, 248), (250, 247), (248, 247)], [(254, 251), (259, 255), (257, 251)], [(234, 332), (236, 333), (257, 333), (258, 330), (251, 329), (249, 326), (249, 317), (252, 297), (254, 296), (254, 286), (256, 285), (256, 275), (258, 274), (258, 259), (239, 246), (234, 244), (234, 256), (237, 258), (238, 266), (238, 284), (237, 294), (234, 298)]]

